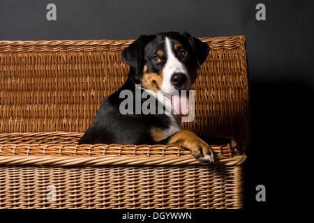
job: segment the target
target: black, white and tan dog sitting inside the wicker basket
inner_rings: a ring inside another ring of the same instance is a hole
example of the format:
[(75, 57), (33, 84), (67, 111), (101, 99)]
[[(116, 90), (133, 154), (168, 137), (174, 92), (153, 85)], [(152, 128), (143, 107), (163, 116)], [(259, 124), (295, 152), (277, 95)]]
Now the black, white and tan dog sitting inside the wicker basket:
[[(78, 144), (174, 144), (190, 150), (200, 162), (214, 162), (209, 145), (195, 133), (181, 128), (181, 118), (188, 110), (181, 105), (186, 103), (188, 107), (188, 93), (172, 94), (190, 90), (208, 54), (207, 43), (186, 31), (137, 38), (121, 53), (130, 66), (128, 79), (118, 91), (103, 99), (93, 123)], [(149, 105), (149, 109), (156, 111), (154, 114), (136, 113), (146, 101), (138, 97), (127, 106), (128, 113), (121, 114), (121, 103), (125, 100), (121, 94), (136, 91), (156, 100), (155, 106)], [(163, 111), (177, 113), (160, 114), (160, 105)]]

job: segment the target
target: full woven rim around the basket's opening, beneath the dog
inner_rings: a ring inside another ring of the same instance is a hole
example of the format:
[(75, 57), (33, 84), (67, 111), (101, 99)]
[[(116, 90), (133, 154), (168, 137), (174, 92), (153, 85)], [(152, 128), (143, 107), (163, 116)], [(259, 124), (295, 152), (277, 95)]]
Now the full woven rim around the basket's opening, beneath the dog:
[[(0, 165), (47, 164), (63, 167), (202, 164), (195, 160), (189, 151), (174, 145), (76, 144), (75, 141), (82, 135), (83, 133), (80, 132), (1, 133)], [(16, 143), (10, 143), (10, 140)], [(36, 140), (44, 140), (46, 143), (36, 143)], [(70, 140), (71, 142), (69, 144), (57, 143), (54, 140)], [(210, 146), (216, 157), (214, 164), (239, 165), (246, 160), (246, 154), (239, 153), (237, 144)]]

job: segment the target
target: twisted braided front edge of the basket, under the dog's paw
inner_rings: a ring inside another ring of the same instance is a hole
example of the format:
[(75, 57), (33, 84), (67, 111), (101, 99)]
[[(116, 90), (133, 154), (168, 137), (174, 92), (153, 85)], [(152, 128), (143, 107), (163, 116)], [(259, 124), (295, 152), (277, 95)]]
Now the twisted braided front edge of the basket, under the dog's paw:
[(193, 156), (186, 157), (145, 157), (145, 156), (96, 156), (96, 157), (74, 157), (74, 156), (0, 156), (1, 165), (34, 165), (34, 166), (240, 166), (246, 161), (246, 155), (237, 155), (231, 158), (219, 158), (211, 164), (203, 164)]

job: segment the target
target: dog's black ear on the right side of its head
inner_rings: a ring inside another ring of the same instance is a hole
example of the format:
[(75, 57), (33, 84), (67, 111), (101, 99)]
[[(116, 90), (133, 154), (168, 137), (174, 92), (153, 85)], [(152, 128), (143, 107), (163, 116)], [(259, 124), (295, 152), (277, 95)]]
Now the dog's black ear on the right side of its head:
[(186, 36), (186, 38), (188, 38), (188, 42), (195, 51), (197, 68), (200, 68), (202, 63), (204, 63), (204, 61), (207, 59), (209, 53), (209, 45), (202, 42), (200, 39), (191, 36), (190, 33), (186, 31), (181, 31), (180, 33), (181, 35), (184, 35)]

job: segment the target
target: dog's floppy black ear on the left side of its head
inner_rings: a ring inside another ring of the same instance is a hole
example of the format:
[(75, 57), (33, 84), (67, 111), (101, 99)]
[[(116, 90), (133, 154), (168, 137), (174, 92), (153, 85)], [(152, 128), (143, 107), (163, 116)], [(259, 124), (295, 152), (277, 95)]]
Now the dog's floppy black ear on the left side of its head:
[(136, 73), (139, 72), (142, 67), (144, 47), (152, 37), (152, 35), (142, 35), (122, 51), (122, 59), (124, 59)]

